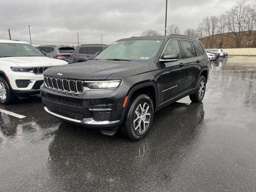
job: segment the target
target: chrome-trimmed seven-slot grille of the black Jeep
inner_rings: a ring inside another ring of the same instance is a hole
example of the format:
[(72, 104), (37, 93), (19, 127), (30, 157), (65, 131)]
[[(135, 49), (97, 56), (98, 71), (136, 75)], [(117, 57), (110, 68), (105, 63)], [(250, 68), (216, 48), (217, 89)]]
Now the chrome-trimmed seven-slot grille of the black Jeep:
[(83, 82), (80, 80), (68, 80), (44, 76), (44, 84), (46, 87), (56, 90), (72, 93), (83, 92)]

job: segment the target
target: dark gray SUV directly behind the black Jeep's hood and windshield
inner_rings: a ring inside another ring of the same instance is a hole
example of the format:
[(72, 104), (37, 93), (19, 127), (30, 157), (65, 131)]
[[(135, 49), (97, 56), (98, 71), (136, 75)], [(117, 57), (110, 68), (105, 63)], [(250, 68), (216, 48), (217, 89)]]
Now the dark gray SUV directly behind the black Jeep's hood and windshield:
[(73, 54), (73, 63), (84, 62), (95, 58), (97, 52), (104, 51), (108, 45), (86, 44), (79, 46)]

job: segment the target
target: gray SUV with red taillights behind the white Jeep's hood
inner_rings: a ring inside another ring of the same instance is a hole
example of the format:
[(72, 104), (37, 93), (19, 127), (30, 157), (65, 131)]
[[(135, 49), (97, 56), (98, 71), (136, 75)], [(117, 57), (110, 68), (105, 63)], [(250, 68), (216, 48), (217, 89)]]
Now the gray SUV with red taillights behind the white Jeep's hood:
[(41, 52), (46, 52), (46, 57), (64, 60), (68, 63), (73, 62), (72, 55), (75, 49), (64, 45), (42, 45), (37, 47)]

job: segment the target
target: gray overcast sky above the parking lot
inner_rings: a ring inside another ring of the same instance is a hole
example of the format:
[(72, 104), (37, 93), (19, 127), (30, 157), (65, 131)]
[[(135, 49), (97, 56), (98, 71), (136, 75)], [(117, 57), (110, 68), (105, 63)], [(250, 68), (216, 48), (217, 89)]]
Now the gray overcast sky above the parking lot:
[[(0, 37), (8, 28), (12, 39), (32, 43), (75, 44), (77, 33), (82, 44), (104, 44), (143, 30), (164, 34), (165, 0), (2, 0)], [(246, 0), (246, 3), (254, 3)], [(235, 0), (168, 0), (168, 24), (183, 31), (197, 28), (204, 16), (219, 15), (230, 9)], [(3, 38), (8, 38), (4, 36)]]

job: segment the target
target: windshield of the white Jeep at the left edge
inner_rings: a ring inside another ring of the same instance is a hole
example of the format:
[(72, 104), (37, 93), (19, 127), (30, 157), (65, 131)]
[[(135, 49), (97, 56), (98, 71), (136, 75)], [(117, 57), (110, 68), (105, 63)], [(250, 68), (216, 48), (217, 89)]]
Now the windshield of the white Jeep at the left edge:
[(0, 43), (0, 57), (22, 57), (44, 55), (30, 44)]

